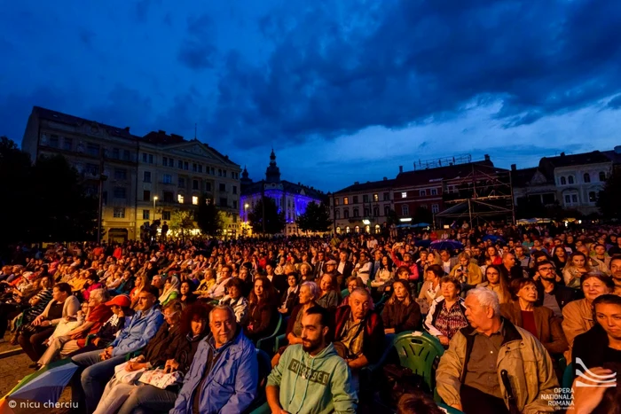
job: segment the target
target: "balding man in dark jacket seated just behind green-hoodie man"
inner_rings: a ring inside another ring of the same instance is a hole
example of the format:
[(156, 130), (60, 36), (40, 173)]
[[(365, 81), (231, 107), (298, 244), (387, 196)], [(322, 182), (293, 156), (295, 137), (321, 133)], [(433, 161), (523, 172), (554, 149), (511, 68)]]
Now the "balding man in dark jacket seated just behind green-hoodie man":
[(341, 343), (339, 354), (350, 366), (358, 389), (358, 371), (376, 363), (384, 345), (384, 324), (371, 310), (371, 295), (359, 287), (350, 294), (349, 305), (336, 309), (334, 342)]

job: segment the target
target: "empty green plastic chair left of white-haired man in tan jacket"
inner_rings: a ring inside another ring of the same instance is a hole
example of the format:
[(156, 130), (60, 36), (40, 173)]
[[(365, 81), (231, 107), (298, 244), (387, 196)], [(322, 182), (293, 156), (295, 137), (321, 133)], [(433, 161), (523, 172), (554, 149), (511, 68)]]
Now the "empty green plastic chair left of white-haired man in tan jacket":
[(444, 347), (435, 336), (423, 332), (414, 336), (412, 332), (402, 332), (393, 341), (401, 366), (420, 375), (429, 390), (436, 387), (436, 368)]

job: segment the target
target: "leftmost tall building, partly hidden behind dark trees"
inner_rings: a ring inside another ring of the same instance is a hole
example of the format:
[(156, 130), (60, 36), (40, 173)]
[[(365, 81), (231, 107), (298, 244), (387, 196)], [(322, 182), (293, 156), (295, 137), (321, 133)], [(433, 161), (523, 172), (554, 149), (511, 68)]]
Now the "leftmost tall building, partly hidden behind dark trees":
[(102, 229), (109, 240), (134, 239), (138, 137), (116, 128), (38, 106), (33, 108), (22, 149), (33, 161), (63, 155), (97, 196), (102, 185)]

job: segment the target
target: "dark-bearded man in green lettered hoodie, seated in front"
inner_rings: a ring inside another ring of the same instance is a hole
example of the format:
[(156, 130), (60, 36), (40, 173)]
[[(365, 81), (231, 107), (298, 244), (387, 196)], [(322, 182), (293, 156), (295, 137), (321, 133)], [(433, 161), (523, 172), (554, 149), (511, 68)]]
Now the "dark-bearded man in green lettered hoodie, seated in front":
[(319, 306), (302, 316), (302, 344), (287, 347), (267, 379), (271, 412), (356, 412), (350, 368), (328, 340), (331, 317)]

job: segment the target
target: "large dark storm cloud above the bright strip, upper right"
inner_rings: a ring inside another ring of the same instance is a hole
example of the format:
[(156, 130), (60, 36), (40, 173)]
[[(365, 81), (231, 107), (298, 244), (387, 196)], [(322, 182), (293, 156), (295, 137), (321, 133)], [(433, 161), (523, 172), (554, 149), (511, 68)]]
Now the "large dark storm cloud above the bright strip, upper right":
[(621, 91), (621, 2), (312, 4), (257, 21), (274, 43), (264, 64), (229, 54), (214, 131), (238, 145), (294, 144), (498, 100), (495, 117), (513, 128)]

